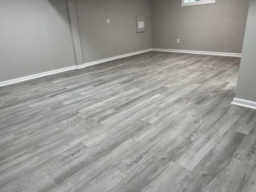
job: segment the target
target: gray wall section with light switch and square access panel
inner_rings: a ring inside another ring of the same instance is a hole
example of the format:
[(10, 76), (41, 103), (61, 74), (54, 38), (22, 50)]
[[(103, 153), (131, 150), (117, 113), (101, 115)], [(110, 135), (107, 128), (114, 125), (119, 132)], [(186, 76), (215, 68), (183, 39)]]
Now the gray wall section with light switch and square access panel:
[[(151, 48), (150, 0), (75, 2), (84, 63)], [(146, 32), (136, 33), (136, 15), (146, 15)]]

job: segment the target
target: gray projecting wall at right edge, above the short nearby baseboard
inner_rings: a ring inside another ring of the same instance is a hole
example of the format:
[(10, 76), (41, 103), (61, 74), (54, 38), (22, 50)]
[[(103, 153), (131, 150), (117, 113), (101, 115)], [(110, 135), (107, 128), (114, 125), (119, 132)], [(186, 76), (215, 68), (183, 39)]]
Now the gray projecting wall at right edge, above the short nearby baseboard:
[(256, 0), (250, 1), (236, 98), (256, 102)]

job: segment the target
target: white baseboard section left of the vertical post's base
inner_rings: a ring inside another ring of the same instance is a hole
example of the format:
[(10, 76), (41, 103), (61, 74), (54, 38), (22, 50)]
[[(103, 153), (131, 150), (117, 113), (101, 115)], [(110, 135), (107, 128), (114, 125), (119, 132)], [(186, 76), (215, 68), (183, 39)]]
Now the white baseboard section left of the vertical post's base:
[(22, 82), (22, 81), (35, 79), (35, 78), (39, 78), (39, 77), (44, 77), (44, 76), (48, 76), (48, 75), (52, 75), (52, 74), (56, 74), (56, 73), (61, 73), (61, 72), (69, 71), (69, 70), (74, 70), (74, 69), (77, 69), (77, 67), (78, 66), (71, 66), (71, 67), (66, 67), (66, 68), (62, 68), (62, 69), (56, 69), (56, 70), (38, 73), (38, 74), (30, 75), (30, 76), (25, 76), (25, 77), (20, 77), (20, 78), (16, 78), (16, 79), (3, 81), (3, 82), (0, 82), (0, 87), (18, 83), (18, 82)]

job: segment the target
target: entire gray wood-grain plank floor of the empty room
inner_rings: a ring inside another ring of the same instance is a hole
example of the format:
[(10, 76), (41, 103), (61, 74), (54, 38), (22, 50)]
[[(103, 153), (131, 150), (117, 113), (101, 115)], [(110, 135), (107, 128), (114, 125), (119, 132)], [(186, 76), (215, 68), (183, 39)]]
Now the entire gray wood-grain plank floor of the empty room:
[(148, 52), (0, 88), (2, 192), (256, 192), (240, 58)]

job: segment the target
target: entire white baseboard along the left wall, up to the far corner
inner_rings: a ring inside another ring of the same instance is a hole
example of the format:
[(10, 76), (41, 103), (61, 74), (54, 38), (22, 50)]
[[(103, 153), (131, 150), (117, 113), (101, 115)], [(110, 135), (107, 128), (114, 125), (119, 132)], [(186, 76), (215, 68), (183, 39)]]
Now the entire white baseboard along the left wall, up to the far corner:
[(146, 50), (137, 51), (137, 52), (133, 52), (133, 53), (128, 53), (128, 54), (115, 56), (115, 57), (111, 57), (111, 58), (106, 58), (106, 59), (102, 59), (102, 60), (98, 60), (98, 61), (94, 61), (94, 62), (90, 62), (90, 63), (78, 65), (78, 66), (75, 65), (75, 66), (71, 66), (71, 67), (66, 67), (66, 68), (62, 68), (62, 69), (47, 71), (47, 72), (38, 73), (38, 74), (25, 76), (25, 77), (21, 77), (21, 78), (11, 79), (11, 80), (0, 82), (0, 87), (10, 85), (10, 84), (14, 84), (14, 83), (18, 83), (18, 82), (22, 82), (22, 81), (26, 81), (26, 80), (31, 80), (31, 79), (43, 77), (43, 76), (48, 76), (48, 75), (52, 75), (52, 74), (56, 74), (56, 73), (61, 73), (61, 72), (69, 71), (69, 70), (81, 69), (81, 68), (85, 68), (86, 66), (96, 65), (96, 64), (100, 64), (100, 63), (104, 63), (104, 62), (108, 62), (108, 61), (112, 61), (112, 60), (116, 60), (116, 59), (120, 59), (120, 58), (124, 58), (124, 57), (128, 57), (128, 56), (133, 56), (133, 55), (137, 55), (137, 54), (150, 52), (150, 51), (151, 51), (151, 49), (146, 49)]

